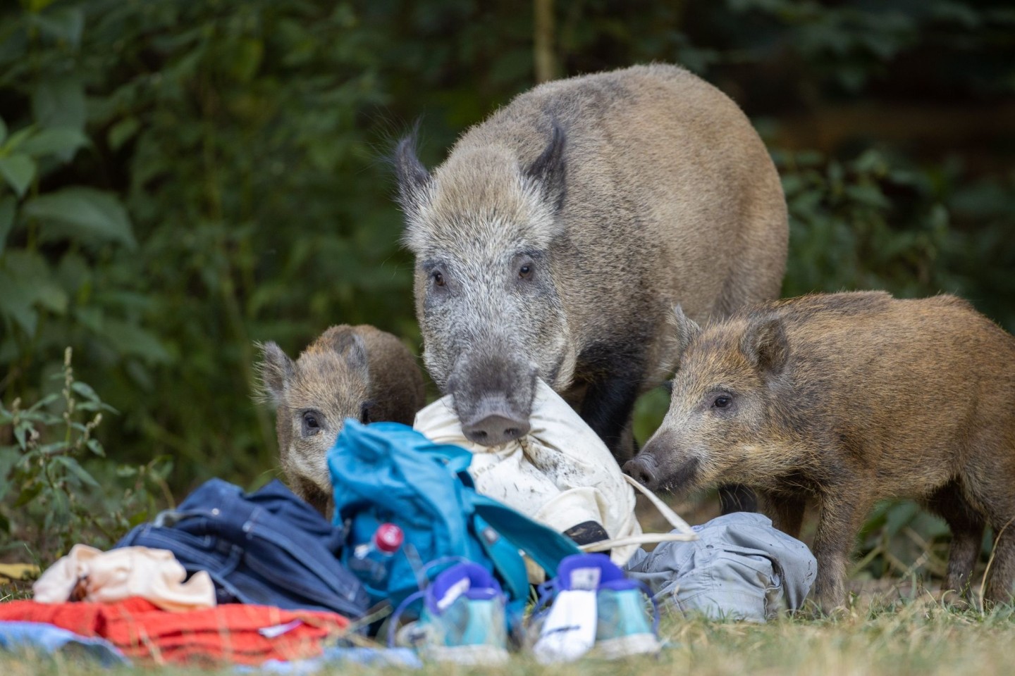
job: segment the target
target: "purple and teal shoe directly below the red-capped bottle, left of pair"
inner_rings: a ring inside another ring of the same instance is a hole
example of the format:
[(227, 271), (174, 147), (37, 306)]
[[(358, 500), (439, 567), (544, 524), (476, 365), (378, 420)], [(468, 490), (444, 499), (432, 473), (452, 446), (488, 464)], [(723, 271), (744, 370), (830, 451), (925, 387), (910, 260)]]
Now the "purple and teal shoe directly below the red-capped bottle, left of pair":
[[(399, 632), (425, 659), (464, 665), (507, 661), (507, 598), (499, 583), (475, 564), (456, 564), (430, 585), (405, 599), (392, 615), (398, 626), (402, 612), (423, 599), (419, 619)], [(389, 644), (393, 645), (392, 630)]]

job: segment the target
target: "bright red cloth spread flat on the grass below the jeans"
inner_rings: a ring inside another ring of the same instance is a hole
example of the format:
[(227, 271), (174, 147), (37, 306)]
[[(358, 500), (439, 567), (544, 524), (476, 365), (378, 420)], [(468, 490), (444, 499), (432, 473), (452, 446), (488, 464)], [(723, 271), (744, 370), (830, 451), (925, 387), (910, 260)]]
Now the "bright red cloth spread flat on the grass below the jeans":
[[(101, 636), (128, 657), (151, 658), (159, 664), (258, 665), (266, 660), (317, 657), (322, 641), (341, 633), (349, 624), (336, 613), (239, 603), (165, 612), (136, 597), (120, 603), (11, 601), (0, 603), (3, 620), (49, 622), (85, 636)], [(298, 621), (288, 630), (279, 626), (293, 620)]]

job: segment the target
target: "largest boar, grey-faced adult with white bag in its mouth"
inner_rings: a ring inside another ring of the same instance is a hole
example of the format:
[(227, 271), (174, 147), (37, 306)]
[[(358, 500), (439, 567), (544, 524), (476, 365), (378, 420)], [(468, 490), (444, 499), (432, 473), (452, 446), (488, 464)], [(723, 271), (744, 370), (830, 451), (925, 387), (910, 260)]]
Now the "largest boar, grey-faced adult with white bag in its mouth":
[(432, 174), (395, 151), (423, 360), (465, 435), (526, 434), (536, 378), (620, 457), (667, 371), (667, 316), (773, 298), (787, 214), (737, 105), (675, 66), (549, 82), (468, 130)]

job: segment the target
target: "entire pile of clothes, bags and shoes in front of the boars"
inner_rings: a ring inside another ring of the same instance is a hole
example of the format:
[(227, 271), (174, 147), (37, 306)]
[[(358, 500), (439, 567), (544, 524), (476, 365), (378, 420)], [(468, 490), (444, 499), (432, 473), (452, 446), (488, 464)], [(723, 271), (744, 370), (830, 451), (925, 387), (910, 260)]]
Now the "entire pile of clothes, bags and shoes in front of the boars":
[[(555, 663), (657, 653), (660, 605), (755, 621), (801, 607), (805, 545), (755, 514), (690, 529), (651, 495), (674, 531), (642, 534), (628, 479), (558, 399), (541, 386), (535, 436), (503, 453), (445, 443), (461, 427), (438, 407), (417, 419), (430, 438), (347, 420), (328, 454), (333, 523), (278, 481), (207, 481), (111, 551), (73, 547), (35, 600), (0, 604), (0, 648), (277, 672), (511, 650)], [(609, 554), (580, 551), (590, 524), (582, 549)]]

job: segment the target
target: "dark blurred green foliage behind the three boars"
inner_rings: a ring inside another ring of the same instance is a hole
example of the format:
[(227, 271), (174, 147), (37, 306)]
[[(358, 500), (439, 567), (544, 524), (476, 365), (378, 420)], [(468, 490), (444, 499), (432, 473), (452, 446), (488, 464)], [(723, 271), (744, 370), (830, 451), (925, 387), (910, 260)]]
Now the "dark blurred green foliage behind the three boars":
[[(295, 356), (366, 322), (418, 354), (394, 139), (421, 116), (432, 166), (540, 79), (649, 61), (768, 144), (785, 295), (946, 291), (1015, 329), (1009, 0), (20, 0), (0, 9), (0, 400), (59, 390), (72, 346), (119, 411), (96, 430), (114, 461), (171, 456), (178, 499), (265, 482), (254, 341)], [(641, 439), (665, 405), (641, 401)]]

